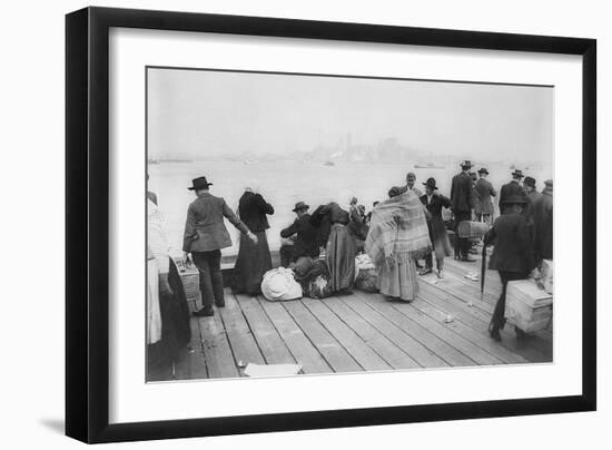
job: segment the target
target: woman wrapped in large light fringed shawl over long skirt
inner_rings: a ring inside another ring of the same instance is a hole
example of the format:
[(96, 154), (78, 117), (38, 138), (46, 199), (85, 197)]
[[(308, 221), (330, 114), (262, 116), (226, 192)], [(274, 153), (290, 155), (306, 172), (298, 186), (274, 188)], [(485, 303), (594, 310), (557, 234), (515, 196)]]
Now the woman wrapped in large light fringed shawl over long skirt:
[(377, 287), (393, 300), (413, 301), (418, 293), (415, 258), (432, 252), (425, 208), (412, 190), (389, 190), (372, 212), (365, 248), (376, 265)]

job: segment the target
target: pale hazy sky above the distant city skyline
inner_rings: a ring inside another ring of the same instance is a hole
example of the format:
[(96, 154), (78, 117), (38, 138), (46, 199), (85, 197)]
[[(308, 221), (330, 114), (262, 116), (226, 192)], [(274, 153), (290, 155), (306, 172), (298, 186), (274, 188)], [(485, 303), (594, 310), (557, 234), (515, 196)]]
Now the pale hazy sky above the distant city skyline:
[(396, 138), (435, 154), (550, 160), (553, 88), (149, 69), (149, 156)]

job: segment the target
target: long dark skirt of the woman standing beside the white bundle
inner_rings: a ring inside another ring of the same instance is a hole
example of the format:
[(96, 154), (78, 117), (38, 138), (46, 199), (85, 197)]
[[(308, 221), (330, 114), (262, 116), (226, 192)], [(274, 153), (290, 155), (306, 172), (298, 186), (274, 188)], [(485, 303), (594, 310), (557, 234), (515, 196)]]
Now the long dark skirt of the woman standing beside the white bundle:
[(260, 294), (264, 274), (272, 270), (266, 232), (255, 232), (255, 235), (257, 245), (254, 245), (246, 235), (240, 235), (240, 250), (230, 282), (231, 291), (237, 294)]

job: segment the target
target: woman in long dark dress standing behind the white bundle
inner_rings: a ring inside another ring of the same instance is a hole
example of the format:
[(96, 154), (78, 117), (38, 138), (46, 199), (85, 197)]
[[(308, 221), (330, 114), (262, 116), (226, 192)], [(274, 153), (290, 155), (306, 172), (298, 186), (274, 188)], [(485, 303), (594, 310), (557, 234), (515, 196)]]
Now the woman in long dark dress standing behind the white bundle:
[(240, 247), (231, 276), (231, 290), (239, 294), (258, 295), (261, 293), (264, 274), (272, 270), (270, 250), (266, 238), (267, 215), (274, 214), (274, 207), (260, 194), (245, 190), (238, 204), (240, 221), (257, 236), (257, 244), (240, 235)]

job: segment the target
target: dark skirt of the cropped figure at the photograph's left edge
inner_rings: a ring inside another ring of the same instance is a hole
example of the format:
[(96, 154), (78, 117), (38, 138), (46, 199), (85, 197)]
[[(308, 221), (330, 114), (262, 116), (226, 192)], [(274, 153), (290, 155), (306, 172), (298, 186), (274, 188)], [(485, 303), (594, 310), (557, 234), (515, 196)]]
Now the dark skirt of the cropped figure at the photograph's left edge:
[(172, 258), (170, 258), (168, 284), (174, 294), (169, 297), (159, 295), (161, 340), (148, 345), (147, 349), (148, 381), (171, 378), (171, 365), (178, 360), (180, 351), (187, 346), (191, 339), (187, 296)]

